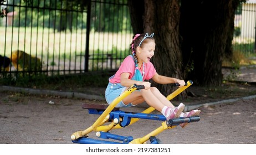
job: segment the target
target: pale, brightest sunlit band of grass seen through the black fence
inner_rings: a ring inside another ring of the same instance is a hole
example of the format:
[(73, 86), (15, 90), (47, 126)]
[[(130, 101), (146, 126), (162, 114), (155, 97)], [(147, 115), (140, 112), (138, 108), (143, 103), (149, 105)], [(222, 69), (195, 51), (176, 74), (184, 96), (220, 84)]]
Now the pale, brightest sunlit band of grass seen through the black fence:
[[(114, 47), (118, 50), (129, 48), (132, 34), (126, 33), (98, 33), (91, 32), (89, 50), (110, 51)], [(84, 53), (86, 46), (86, 30), (81, 29), (76, 33), (55, 32), (48, 28), (16, 28), (0, 27), (0, 51), (11, 55), (11, 51), (20, 49), (33, 55), (57, 56), (75, 55)]]

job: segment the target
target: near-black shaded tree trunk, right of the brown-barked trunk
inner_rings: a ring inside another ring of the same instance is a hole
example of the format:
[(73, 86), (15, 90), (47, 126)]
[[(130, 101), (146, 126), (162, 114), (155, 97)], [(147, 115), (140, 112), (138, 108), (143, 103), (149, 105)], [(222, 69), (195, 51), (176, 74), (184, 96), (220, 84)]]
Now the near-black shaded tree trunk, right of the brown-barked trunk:
[(222, 59), (226, 51), (232, 52), (233, 1), (181, 1), (185, 75), (198, 85), (222, 84)]

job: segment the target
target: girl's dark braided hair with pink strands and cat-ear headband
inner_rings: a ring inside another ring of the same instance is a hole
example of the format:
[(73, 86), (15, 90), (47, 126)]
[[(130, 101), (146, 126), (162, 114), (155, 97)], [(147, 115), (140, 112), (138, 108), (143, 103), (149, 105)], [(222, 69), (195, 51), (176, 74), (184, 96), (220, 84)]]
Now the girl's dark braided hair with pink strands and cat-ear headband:
[(136, 56), (136, 48), (140, 46), (141, 48), (144, 47), (145, 43), (148, 43), (150, 40), (155, 41), (153, 39), (153, 33), (151, 35), (146, 34), (136, 34), (134, 35), (132, 42), (131, 42), (131, 54), (134, 56), (135, 67), (138, 66), (137, 56)]

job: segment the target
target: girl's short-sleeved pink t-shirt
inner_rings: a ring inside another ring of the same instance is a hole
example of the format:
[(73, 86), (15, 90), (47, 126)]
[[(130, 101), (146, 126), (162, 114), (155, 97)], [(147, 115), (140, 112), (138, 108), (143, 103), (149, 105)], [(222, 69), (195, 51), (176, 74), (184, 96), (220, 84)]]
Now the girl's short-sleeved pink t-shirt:
[[(141, 74), (142, 74), (142, 68), (141, 66)], [(156, 69), (154, 68), (153, 64), (149, 61), (149, 63), (145, 63), (145, 68), (144, 68), (145, 74), (143, 76), (143, 81), (144, 80), (150, 80), (155, 74), (156, 74)], [(135, 63), (134, 59), (129, 55), (127, 56), (124, 61), (122, 61), (122, 64), (120, 65), (119, 69), (116, 71), (116, 74), (112, 79), (109, 80), (112, 84), (114, 83), (120, 83), (121, 81), (121, 74), (122, 73), (130, 73), (129, 79), (134, 76), (135, 73)]]

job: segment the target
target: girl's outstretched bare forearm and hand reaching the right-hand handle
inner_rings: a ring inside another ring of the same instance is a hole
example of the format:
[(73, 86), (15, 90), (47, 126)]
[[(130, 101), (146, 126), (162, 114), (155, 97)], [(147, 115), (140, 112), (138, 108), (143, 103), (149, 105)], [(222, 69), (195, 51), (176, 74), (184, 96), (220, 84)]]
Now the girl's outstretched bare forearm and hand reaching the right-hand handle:
[(157, 82), (158, 84), (174, 84), (174, 83), (178, 83), (181, 86), (185, 85), (185, 81), (184, 80), (176, 79), (174, 77), (167, 77), (167, 76), (159, 75), (157, 73), (152, 77), (152, 80)]

